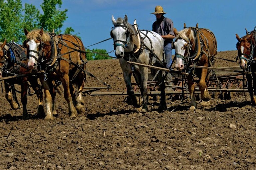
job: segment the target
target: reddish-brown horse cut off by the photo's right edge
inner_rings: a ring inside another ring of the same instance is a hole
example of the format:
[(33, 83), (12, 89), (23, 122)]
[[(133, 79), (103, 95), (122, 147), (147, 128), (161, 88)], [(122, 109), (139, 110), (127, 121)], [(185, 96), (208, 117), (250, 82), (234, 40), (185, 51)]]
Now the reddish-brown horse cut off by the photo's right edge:
[[(251, 32), (246, 31), (246, 35), (240, 38), (236, 34), (238, 40), (236, 48), (238, 50), (240, 67), (251, 74), (246, 74), (248, 91), (251, 97), (252, 105), (256, 105), (256, 31), (255, 28)], [(254, 91), (254, 92), (253, 92)]]

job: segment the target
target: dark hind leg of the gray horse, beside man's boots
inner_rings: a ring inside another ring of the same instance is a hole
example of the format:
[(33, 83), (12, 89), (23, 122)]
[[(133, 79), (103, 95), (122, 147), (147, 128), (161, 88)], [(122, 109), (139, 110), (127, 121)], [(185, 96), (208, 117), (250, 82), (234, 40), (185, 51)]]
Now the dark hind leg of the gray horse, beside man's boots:
[(158, 80), (159, 80), (159, 88), (161, 92), (161, 99), (160, 99), (160, 105), (158, 107), (158, 112), (163, 112), (167, 110), (166, 101), (165, 101), (165, 81), (164, 77), (162, 75), (162, 72), (158, 73)]

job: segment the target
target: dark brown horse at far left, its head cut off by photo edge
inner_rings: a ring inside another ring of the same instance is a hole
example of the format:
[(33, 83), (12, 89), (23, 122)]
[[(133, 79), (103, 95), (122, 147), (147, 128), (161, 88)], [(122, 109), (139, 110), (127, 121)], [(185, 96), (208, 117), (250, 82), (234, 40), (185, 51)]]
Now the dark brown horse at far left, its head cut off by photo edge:
[[(5, 87), (5, 98), (10, 103), (12, 109), (18, 109), (19, 103), (16, 98), (16, 92), (14, 88), (14, 84), (21, 85), (21, 103), (23, 106), (23, 119), (28, 118), (27, 112), (27, 89), (28, 89), (28, 81), (31, 84), (31, 87), (36, 92), (38, 97), (38, 115), (41, 115), (42, 110), (42, 91), (41, 87), (37, 82), (37, 77), (34, 75), (22, 76), (18, 77), (21, 74), (28, 74), (31, 72), (27, 63), (27, 50), (23, 48), (21, 45), (16, 44), (15, 42), (0, 43), (0, 67), (1, 73), (3, 77), (13, 76), (14, 78), (5, 79), (4, 87)], [(18, 78), (15, 78), (18, 77)]]

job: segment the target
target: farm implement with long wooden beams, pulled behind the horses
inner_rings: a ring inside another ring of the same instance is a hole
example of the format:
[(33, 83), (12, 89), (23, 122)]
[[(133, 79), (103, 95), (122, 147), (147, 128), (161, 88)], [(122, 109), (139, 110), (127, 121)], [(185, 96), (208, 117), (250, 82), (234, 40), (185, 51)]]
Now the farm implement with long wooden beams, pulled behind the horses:
[[(144, 65), (141, 63), (127, 61), (129, 64), (133, 65), (142, 65), (144, 67), (148, 67), (150, 69), (160, 69), (162, 71), (169, 72), (173, 75), (172, 83), (173, 85), (166, 85), (171, 87), (173, 90), (165, 91), (165, 94), (168, 96), (175, 96), (175, 98), (184, 99), (189, 96), (189, 91), (186, 84), (186, 75), (188, 73), (179, 72), (175, 70), (170, 70), (167, 68), (161, 68), (151, 65)], [(190, 65), (190, 67), (193, 67)], [(240, 92), (248, 92), (247, 88), (247, 80), (245, 78), (246, 74), (251, 74), (249, 71), (243, 71), (238, 67), (203, 67), (203, 66), (194, 66), (197, 68), (208, 68), (209, 70), (214, 70), (214, 75), (210, 75), (207, 80), (208, 91), (210, 94), (216, 98), (219, 97), (221, 99), (232, 99), (235, 97), (236, 93)], [(149, 70), (150, 70), (149, 69)], [(147, 84), (148, 96), (159, 96), (160, 91), (158, 88), (158, 83), (151, 78), (149, 71), (149, 80)], [(197, 80), (197, 78), (194, 78)], [(140, 95), (139, 87), (136, 82), (132, 83), (134, 88), (135, 95)], [(108, 87), (84, 87), (86, 89), (83, 93), (87, 93), (92, 96), (102, 96), (102, 95), (127, 95), (126, 91), (108, 91)], [(199, 94), (199, 88), (195, 88), (196, 94)], [(200, 95), (198, 95), (200, 96)]]

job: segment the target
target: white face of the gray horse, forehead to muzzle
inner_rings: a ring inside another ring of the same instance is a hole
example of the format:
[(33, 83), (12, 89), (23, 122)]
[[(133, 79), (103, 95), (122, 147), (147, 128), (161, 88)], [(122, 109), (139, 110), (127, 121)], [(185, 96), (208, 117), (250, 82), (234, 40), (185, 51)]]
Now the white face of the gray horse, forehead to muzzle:
[(124, 50), (125, 50), (124, 46), (126, 42), (126, 29), (124, 29), (123, 27), (115, 27), (112, 30), (112, 34), (113, 34), (113, 40), (116, 47), (115, 55), (118, 58), (122, 58), (124, 57)]

